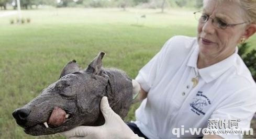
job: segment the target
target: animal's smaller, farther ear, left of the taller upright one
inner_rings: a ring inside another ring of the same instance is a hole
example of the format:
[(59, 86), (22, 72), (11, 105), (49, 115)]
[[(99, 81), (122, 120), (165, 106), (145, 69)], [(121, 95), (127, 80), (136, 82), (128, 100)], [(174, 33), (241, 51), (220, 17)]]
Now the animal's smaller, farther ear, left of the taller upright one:
[(70, 61), (63, 67), (62, 72), (60, 74), (60, 78), (74, 72), (79, 72), (79, 66), (77, 65), (75, 60)]

